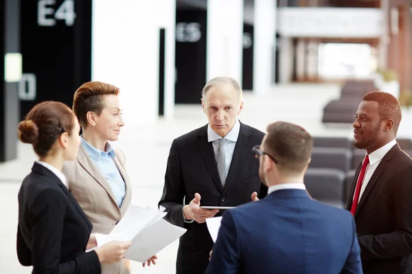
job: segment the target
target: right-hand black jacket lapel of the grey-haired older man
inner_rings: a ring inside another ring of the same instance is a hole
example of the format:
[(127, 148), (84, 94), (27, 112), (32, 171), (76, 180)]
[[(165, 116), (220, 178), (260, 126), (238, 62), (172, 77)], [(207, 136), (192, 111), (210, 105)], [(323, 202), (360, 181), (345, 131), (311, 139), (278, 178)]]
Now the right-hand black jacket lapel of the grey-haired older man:
[(241, 123), (238, 141), (235, 145), (235, 151), (233, 151), (233, 157), (231, 160), (229, 173), (227, 174), (225, 188), (223, 194), (227, 193), (231, 186), (239, 180), (239, 173), (242, 170), (245, 159), (251, 155), (251, 145), (249, 143), (249, 136), (251, 136), (249, 130)]

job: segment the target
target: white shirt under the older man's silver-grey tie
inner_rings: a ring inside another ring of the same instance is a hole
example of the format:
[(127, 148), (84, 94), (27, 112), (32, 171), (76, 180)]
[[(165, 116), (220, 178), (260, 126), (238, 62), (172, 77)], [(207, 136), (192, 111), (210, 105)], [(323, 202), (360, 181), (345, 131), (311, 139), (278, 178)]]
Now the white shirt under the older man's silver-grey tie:
[[(228, 134), (226, 134), (225, 137), (223, 137), (227, 140), (223, 145), (223, 149), (225, 149), (226, 175), (229, 173), (231, 160), (233, 158), (233, 153), (235, 152), (236, 142), (238, 142), (239, 132), (240, 122), (238, 119), (236, 119), (235, 125), (233, 125), (231, 131)], [(222, 137), (220, 137), (216, 132), (214, 132), (213, 129), (211, 129), (210, 125), (207, 126), (207, 141), (212, 142), (215, 160), (218, 155), (219, 149), (219, 144), (215, 141), (221, 138)]]

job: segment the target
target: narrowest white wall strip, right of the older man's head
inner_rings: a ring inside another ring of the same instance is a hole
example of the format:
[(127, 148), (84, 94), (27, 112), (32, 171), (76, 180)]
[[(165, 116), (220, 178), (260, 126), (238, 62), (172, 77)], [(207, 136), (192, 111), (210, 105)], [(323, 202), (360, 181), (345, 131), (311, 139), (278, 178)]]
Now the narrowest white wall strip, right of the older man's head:
[(253, 92), (268, 92), (275, 73), (276, 0), (255, 0)]

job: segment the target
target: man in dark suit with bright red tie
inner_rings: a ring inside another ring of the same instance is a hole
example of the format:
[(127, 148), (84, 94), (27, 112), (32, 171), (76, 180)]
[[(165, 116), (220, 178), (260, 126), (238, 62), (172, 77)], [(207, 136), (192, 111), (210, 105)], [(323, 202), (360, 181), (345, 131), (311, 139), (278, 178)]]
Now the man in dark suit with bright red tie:
[(354, 214), (366, 274), (412, 273), (412, 160), (396, 142), (398, 99), (367, 93), (356, 112), (354, 147), (366, 149), (346, 209)]

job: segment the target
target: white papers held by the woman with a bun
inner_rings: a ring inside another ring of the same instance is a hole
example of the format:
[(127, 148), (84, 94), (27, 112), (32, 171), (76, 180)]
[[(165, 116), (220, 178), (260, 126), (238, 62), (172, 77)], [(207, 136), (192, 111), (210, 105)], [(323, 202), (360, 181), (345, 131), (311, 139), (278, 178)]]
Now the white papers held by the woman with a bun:
[(163, 217), (167, 213), (164, 210), (162, 207), (157, 211), (130, 205), (110, 234), (96, 235), (98, 247), (112, 240), (131, 241), (126, 258), (146, 262), (186, 232), (186, 229), (165, 221)]

